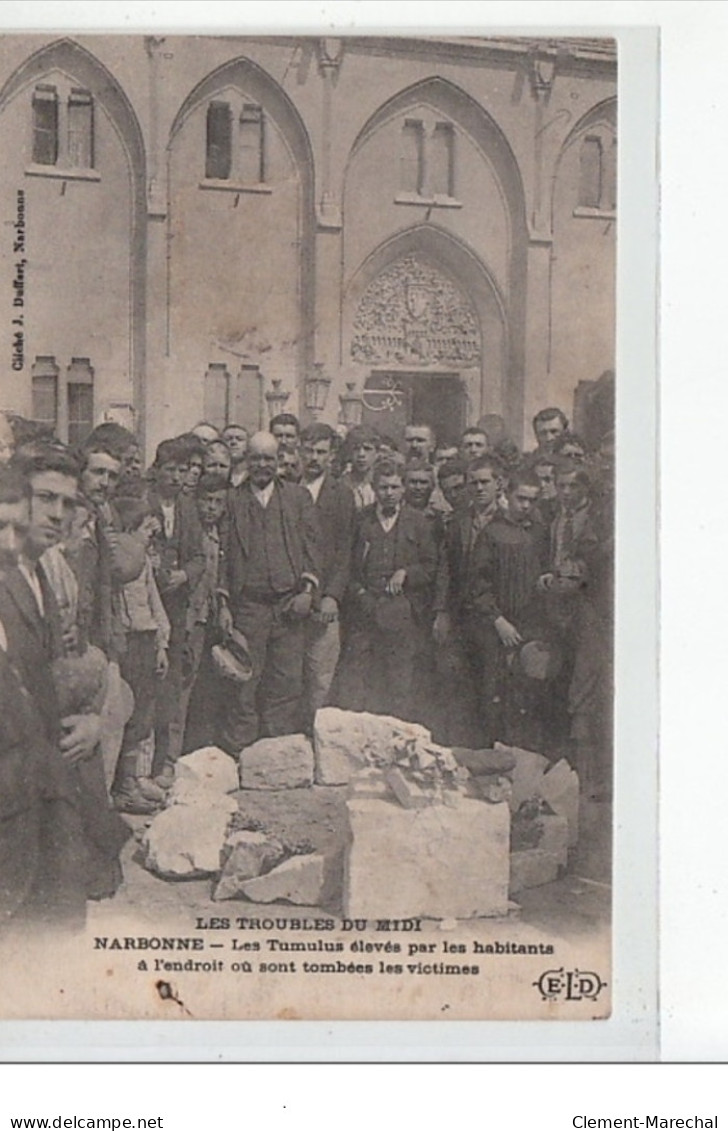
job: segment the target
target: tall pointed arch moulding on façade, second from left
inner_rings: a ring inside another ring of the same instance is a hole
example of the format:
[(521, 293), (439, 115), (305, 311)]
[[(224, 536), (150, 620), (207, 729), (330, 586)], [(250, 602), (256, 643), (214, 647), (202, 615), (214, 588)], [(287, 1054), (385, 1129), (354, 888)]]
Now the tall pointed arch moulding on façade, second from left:
[[(251, 95), (270, 115), (278, 128), (291, 159), (296, 169), (301, 192), (296, 241), (298, 244), (298, 277), (296, 279), (300, 325), (297, 342), (298, 382), (313, 361), (313, 325), (315, 303), (315, 226), (314, 226), (314, 163), (311, 139), (303, 119), (279, 84), (258, 63), (250, 59), (233, 59), (207, 75), (188, 94), (177, 110), (167, 141), (167, 166), (174, 141), (185, 121), (203, 103), (229, 87)], [(167, 175), (171, 185), (171, 176)], [(170, 201), (168, 215), (173, 202)]]

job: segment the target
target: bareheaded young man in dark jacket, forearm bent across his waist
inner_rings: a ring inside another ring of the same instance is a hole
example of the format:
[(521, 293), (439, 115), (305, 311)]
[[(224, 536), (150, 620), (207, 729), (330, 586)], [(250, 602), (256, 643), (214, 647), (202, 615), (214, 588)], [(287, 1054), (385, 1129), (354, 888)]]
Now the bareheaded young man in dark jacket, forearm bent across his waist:
[(401, 468), (374, 465), (374, 507), (359, 515), (352, 564), (352, 628), (340, 700), (354, 710), (414, 718), (437, 567), (432, 523), (404, 503)]

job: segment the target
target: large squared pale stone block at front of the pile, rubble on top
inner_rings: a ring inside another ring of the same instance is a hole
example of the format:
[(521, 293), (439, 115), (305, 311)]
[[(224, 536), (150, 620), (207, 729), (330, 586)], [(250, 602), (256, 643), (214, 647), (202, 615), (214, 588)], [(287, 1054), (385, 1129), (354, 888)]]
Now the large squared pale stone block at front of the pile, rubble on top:
[(510, 811), (463, 797), (456, 809), (402, 809), (393, 798), (347, 801), (347, 918), (505, 915)]

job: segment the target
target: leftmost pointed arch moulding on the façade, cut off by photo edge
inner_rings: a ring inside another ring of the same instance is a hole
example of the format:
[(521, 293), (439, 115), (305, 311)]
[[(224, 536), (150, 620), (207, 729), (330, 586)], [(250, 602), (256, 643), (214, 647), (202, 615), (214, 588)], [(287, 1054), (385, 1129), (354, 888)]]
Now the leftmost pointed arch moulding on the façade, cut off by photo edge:
[(0, 88), (0, 114), (26, 87), (49, 71), (63, 71), (90, 92), (96, 105), (112, 123), (127, 161), (131, 185), (130, 334), (129, 372), (133, 407), (141, 441), (145, 431), (146, 369), (146, 153), (139, 121), (131, 102), (114, 75), (86, 48), (72, 40), (58, 40), (29, 55)]

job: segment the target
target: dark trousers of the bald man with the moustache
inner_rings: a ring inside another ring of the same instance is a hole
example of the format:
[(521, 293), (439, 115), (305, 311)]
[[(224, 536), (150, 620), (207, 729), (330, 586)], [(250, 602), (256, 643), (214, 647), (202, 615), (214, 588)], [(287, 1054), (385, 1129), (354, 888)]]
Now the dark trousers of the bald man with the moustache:
[(287, 614), (291, 597), (242, 597), (232, 608), (248, 640), (253, 674), (226, 696), (219, 745), (237, 754), (261, 737), (295, 734), (303, 726), (305, 621)]

